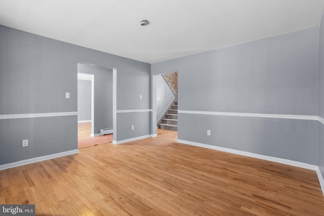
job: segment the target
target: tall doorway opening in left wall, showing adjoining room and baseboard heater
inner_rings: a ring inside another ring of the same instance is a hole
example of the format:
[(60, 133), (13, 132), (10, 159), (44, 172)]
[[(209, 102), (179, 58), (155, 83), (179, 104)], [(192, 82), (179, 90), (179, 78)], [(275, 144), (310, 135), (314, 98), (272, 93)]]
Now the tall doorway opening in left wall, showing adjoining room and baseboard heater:
[(113, 142), (116, 69), (78, 63), (78, 148)]

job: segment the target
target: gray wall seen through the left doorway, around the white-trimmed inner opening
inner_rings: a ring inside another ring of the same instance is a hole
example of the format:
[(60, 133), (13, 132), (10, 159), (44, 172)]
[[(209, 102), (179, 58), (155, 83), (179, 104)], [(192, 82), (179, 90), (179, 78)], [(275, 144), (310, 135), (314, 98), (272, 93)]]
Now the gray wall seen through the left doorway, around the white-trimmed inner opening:
[(94, 74), (94, 134), (112, 128), (112, 69), (77, 64), (78, 73)]

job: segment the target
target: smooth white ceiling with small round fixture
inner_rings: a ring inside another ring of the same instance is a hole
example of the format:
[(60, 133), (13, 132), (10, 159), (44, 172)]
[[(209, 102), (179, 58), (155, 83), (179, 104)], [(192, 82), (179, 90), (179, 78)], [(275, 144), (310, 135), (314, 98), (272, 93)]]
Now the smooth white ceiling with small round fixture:
[(323, 12), (324, 0), (0, 0), (1, 25), (147, 63), (318, 26)]

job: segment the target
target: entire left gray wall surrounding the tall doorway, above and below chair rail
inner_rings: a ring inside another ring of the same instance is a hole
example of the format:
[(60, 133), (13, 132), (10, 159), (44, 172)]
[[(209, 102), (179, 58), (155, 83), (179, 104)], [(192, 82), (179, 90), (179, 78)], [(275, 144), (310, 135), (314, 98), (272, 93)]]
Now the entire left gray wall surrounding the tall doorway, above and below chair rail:
[[(117, 69), (117, 110), (150, 109), (150, 64), (0, 26), (0, 115), (77, 112), (79, 62)], [(114, 140), (151, 134), (149, 127), (132, 132), (124, 115), (117, 115)], [(150, 115), (129, 115), (150, 125)], [(24, 139), (29, 147), (21, 147)], [(73, 149), (76, 115), (0, 120), (0, 164)]]

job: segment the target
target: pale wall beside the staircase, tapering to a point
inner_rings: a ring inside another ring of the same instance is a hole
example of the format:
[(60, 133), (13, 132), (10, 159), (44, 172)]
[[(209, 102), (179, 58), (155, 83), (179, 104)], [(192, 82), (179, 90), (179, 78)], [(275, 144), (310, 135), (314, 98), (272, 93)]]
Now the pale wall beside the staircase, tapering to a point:
[(156, 122), (163, 117), (175, 98), (162, 75), (156, 76)]

